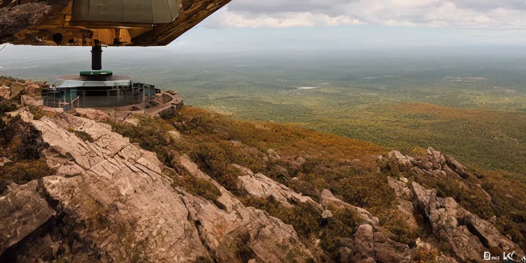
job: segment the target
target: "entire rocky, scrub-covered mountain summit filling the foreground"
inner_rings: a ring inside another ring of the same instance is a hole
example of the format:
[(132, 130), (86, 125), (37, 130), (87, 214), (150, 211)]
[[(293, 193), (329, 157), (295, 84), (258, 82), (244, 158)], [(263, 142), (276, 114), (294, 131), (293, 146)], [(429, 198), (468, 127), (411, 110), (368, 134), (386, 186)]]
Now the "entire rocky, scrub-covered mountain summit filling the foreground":
[[(1, 262), (524, 255), (519, 214), (500, 210), (508, 203), (488, 188), (492, 175), (433, 148), (386, 153), (191, 107), (120, 121), (15, 99), (0, 100)], [(507, 195), (517, 195), (513, 189)]]

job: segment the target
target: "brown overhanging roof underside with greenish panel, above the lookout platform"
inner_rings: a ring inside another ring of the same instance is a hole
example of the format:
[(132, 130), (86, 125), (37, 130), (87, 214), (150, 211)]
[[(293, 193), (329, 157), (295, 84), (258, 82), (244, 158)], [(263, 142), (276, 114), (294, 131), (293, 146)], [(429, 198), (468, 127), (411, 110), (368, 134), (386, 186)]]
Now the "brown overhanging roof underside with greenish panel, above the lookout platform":
[(230, 0), (0, 0), (0, 44), (165, 46)]

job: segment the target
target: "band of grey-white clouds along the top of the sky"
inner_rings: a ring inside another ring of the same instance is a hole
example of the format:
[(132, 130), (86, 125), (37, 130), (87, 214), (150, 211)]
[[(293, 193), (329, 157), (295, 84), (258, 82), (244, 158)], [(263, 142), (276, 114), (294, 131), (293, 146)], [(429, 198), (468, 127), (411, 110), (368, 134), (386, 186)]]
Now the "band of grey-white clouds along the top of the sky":
[(309, 27), (373, 24), (404, 27), (519, 29), (517, 0), (232, 0), (206, 26)]

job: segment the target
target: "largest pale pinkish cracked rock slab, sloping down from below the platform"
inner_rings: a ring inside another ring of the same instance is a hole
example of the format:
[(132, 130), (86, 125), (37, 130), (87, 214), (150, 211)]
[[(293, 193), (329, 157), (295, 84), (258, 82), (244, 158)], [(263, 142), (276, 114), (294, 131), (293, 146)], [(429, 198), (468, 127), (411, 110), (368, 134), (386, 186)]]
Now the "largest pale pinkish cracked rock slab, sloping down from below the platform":
[[(76, 235), (96, 242), (105, 260), (129, 261), (136, 246), (142, 246), (141, 257), (150, 259), (208, 257), (195, 226), (185, 223), (188, 210), (162, 174), (155, 154), (85, 118), (44, 117), (33, 125), (50, 145), (44, 151), (50, 166), (59, 174), (75, 171), (69, 178), (45, 177), (43, 186), (64, 213), (74, 215), (75, 224), (92, 226)], [(65, 126), (84, 131), (94, 143), (79, 139)], [(105, 223), (98, 225), (100, 220)]]

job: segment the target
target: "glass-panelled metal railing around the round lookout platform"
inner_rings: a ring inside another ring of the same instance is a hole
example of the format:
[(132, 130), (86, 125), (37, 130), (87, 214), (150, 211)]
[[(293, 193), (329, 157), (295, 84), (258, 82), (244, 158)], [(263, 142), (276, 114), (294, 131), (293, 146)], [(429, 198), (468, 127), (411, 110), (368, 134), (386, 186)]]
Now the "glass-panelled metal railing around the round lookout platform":
[(102, 89), (104, 87), (76, 87), (44, 89), (42, 100), (44, 106), (63, 108), (65, 111), (77, 107), (82, 108), (117, 108), (143, 103), (153, 99), (156, 88), (153, 85), (136, 83), (127, 88)]

